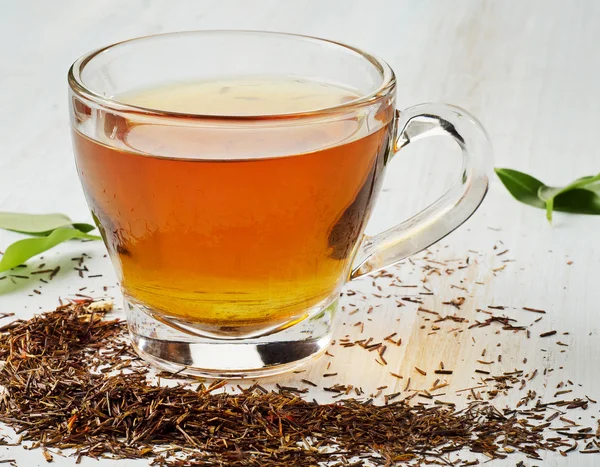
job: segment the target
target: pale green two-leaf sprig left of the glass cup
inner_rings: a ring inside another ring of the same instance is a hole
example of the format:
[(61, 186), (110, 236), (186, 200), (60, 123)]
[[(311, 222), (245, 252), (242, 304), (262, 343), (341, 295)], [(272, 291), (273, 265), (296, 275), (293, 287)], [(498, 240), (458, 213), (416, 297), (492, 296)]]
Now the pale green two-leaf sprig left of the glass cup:
[(91, 224), (73, 222), (64, 214), (0, 212), (0, 229), (33, 237), (18, 240), (6, 248), (0, 259), (0, 272), (23, 264), (28, 259), (73, 238), (100, 240), (101, 237), (88, 233), (95, 228)]

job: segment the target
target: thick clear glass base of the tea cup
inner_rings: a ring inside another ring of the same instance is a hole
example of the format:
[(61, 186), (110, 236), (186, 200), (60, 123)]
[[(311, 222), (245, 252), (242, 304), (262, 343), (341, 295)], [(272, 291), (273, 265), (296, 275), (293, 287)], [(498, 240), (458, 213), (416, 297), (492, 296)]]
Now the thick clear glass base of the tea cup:
[(325, 352), (338, 308), (335, 298), (307, 317), (265, 336), (215, 339), (168, 326), (125, 300), (133, 346), (148, 363), (171, 373), (204, 378), (258, 378), (294, 370)]

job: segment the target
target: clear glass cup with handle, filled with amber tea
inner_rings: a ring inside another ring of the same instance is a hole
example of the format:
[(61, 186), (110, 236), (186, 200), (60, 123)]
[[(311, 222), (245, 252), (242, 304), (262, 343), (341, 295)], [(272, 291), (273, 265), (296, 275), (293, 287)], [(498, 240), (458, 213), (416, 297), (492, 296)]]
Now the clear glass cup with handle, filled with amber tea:
[[(346, 282), (460, 226), (492, 168), (475, 118), (395, 108), (384, 61), (313, 37), (197, 31), (91, 52), (69, 71), (78, 173), (131, 339), (171, 372), (254, 377), (322, 354)], [(460, 178), (363, 234), (392, 156), (445, 135)]]

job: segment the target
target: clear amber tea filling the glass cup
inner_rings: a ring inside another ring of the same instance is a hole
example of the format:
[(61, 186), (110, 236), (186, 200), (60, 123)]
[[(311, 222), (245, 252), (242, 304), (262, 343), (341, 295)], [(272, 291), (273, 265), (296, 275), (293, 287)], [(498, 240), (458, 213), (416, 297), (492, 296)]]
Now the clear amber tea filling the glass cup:
[[(372, 132), (356, 114), (230, 131), (218, 116), (268, 121), (357, 97), (291, 78), (186, 83), (115, 98), (183, 123), (107, 113), (97, 141), (74, 131), (88, 203), (128, 298), (226, 328), (301, 319), (336, 297), (378, 191), (390, 119)], [(185, 114), (217, 117), (186, 127)]]

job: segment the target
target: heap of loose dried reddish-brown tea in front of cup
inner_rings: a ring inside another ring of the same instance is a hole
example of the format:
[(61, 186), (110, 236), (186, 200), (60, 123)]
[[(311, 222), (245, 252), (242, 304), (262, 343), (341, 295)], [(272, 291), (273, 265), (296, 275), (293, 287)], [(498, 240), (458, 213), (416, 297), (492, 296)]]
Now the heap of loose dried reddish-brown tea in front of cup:
[[(226, 381), (152, 384), (148, 367), (124, 340), (125, 323), (105, 320), (106, 311), (79, 300), (0, 328), (0, 421), (22, 441), (73, 449), (77, 462), (150, 458), (161, 467), (466, 466), (481, 462), (454, 461), (450, 454), (468, 450), (495, 460), (517, 452), (541, 460), (542, 451), (566, 455), (575, 441), (586, 449), (597, 442), (591, 427), (554, 431), (548, 420), (549, 413), (586, 409), (583, 399), (530, 407), (524, 401), (503, 410), (475, 399), (459, 409), (433, 395), (426, 397), (431, 403), (411, 405), (410, 396), (390, 402), (393, 393), (386, 405), (351, 398), (319, 405), (287, 386), (216, 394)], [(511, 387), (523, 377), (514, 371), (489, 380)], [(469, 391), (479, 387), (486, 386)]]

